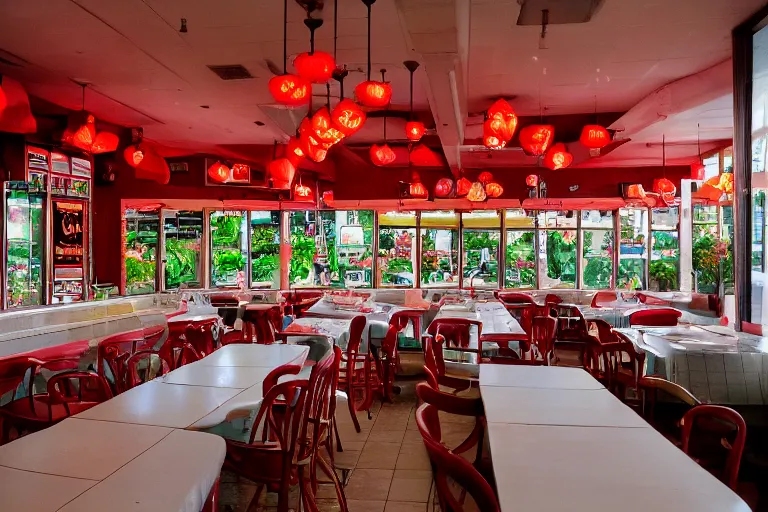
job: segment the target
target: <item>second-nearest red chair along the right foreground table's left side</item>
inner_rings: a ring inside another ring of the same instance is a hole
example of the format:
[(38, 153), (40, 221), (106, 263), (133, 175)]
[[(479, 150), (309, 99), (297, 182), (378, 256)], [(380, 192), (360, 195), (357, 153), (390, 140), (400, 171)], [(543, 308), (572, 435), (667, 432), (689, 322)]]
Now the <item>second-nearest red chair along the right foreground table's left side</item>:
[[(483, 407), (483, 400), (479, 397), (463, 398), (450, 393), (444, 393), (426, 382), (416, 384), (416, 396), (422, 402), (432, 405), (438, 411), (475, 418), (472, 432), (458, 446), (450, 450), (458, 455), (474, 449), (476, 452), (474, 464), (475, 467), (480, 469), (483, 454), (483, 437), (485, 434), (485, 408)], [(434, 417), (428, 415), (425, 419), (430, 422), (429, 430), (433, 433), (435, 440), (442, 443), (440, 422), (437, 415), (434, 415)], [(493, 471), (491, 471), (492, 473)]]

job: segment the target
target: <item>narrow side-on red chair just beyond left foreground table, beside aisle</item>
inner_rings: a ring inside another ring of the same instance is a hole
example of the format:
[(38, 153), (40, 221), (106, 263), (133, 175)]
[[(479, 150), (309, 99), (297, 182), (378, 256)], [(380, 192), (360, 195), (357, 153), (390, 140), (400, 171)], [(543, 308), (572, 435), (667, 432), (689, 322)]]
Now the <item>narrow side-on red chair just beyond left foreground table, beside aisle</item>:
[[(352, 423), (358, 432), (360, 432), (360, 422), (357, 420), (356, 411), (368, 411), (368, 419), (372, 418), (373, 395), (380, 386), (373, 353), (370, 350), (367, 353), (360, 352), (365, 324), (366, 319), (362, 315), (352, 319), (347, 349), (342, 354), (339, 366), (339, 389), (347, 393), (349, 414), (352, 416)], [(362, 395), (359, 403), (358, 394)]]

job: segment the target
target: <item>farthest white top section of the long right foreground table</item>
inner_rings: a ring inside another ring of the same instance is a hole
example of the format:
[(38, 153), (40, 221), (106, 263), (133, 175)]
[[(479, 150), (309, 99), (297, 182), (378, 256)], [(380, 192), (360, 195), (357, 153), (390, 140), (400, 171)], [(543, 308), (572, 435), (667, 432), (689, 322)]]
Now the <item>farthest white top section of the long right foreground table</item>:
[(481, 364), (481, 386), (544, 389), (605, 389), (581, 368)]

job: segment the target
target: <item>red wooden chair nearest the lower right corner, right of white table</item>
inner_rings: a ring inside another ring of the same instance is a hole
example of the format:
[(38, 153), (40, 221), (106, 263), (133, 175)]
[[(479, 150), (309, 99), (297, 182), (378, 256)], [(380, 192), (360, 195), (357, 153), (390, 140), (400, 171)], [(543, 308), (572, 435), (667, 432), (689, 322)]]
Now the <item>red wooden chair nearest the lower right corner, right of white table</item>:
[[(715, 443), (710, 443), (706, 448), (694, 451), (692, 449), (692, 431), (697, 423), (715, 424), (719, 428), (715, 429)], [(723, 427), (729, 431), (728, 435), (723, 435)], [(699, 405), (683, 416), (683, 451), (734, 491), (738, 485), (739, 466), (746, 439), (747, 424), (744, 422), (744, 418), (729, 407)], [(713, 456), (714, 450), (725, 451), (724, 457), (720, 457), (722, 460), (717, 460), (718, 457)], [(722, 467), (714, 465), (718, 462), (722, 462)]]

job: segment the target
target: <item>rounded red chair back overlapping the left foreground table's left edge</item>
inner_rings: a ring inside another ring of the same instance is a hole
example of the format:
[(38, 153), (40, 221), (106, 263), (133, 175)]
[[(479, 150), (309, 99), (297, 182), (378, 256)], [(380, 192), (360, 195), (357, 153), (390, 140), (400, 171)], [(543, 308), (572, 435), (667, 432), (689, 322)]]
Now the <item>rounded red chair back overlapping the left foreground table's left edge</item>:
[[(48, 405), (62, 404), (67, 415), (80, 412), (112, 398), (107, 380), (91, 371), (65, 370), (47, 383)], [(76, 409), (73, 407), (77, 406)]]

